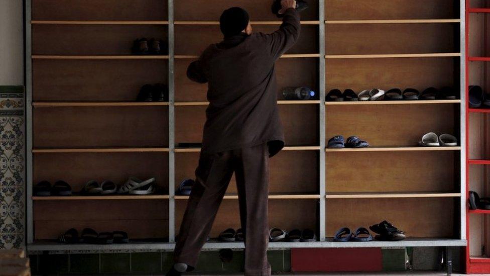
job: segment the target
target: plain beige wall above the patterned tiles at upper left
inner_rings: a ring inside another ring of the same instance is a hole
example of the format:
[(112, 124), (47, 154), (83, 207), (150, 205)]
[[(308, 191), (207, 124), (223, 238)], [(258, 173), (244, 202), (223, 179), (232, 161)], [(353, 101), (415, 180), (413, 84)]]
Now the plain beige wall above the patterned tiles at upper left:
[(0, 85), (24, 84), (22, 0), (0, 0)]

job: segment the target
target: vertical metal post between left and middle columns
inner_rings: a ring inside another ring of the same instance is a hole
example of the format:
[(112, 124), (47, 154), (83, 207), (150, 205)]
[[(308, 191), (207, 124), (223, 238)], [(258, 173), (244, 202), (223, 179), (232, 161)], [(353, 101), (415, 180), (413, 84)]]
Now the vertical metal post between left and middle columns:
[(175, 83), (174, 1), (168, 0), (169, 35), (169, 242), (175, 241)]

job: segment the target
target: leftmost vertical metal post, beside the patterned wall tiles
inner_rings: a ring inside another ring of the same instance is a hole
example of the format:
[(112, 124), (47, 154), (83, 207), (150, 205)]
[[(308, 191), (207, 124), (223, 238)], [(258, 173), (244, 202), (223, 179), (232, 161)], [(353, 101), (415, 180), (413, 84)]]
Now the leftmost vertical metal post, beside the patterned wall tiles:
[(32, 0), (26, 0), (25, 5), (25, 74), (26, 74), (26, 95), (25, 95), (25, 109), (26, 109), (26, 230), (27, 230), (27, 244), (34, 241), (34, 225), (33, 225), (33, 202), (32, 202), (32, 59), (31, 59), (31, 7)]

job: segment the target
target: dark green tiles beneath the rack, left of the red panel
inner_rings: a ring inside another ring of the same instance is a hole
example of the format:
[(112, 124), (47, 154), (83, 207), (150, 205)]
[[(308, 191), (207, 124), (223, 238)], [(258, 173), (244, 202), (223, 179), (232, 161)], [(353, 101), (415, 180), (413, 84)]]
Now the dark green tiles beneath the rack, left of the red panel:
[[(274, 272), (290, 271), (291, 251), (268, 251)], [(173, 252), (41, 254), (30, 255), (33, 274), (130, 274), (165, 273), (173, 264)], [(232, 251), (232, 258), (223, 261), (219, 251), (202, 251), (196, 273), (243, 272), (244, 252)]]

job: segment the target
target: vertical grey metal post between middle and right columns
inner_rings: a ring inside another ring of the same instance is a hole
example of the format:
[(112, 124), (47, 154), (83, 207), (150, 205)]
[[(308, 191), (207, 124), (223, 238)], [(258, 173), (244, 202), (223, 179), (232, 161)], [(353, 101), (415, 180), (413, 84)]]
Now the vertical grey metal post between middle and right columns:
[(319, 0), (318, 3), (318, 20), (319, 29), (319, 80), (320, 80), (320, 241), (325, 240), (326, 230), (326, 206), (325, 206), (325, 182), (326, 182), (326, 167), (325, 167), (325, 0)]

